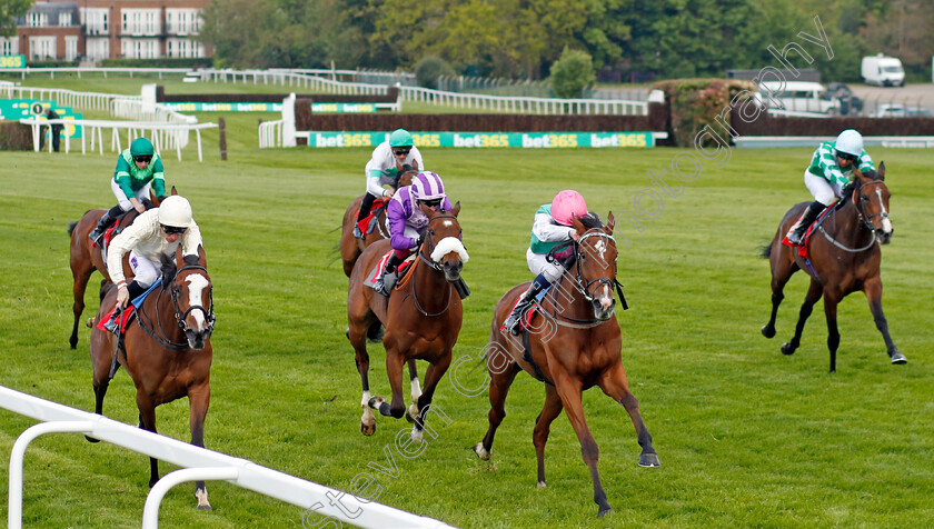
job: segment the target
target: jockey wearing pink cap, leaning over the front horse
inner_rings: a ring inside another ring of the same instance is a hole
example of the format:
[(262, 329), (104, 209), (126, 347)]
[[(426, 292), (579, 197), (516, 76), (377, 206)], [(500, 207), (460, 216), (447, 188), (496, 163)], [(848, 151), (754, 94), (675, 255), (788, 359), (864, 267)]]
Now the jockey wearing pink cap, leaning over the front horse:
[(523, 311), (528, 309), (535, 297), (557, 281), (570, 266), (568, 260), (574, 258), (573, 251), (559, 252), (556, 256), (557, 259), (553, 259), (552, 262), (548, 261), (548, 253), (553, 248), (566, 241), (576, 241), (578, 234), (577, 230), (570, 226), (572, 221), (575, 217), (587, 214), (587, 202), (573, 189), (565, 189), (555, 196), (550, 204), (541, 204), (535, 212), (535, 222), (531, 224), (531, 243), (526, 251), (528, 269), (536, 275), (536, 278), (519, 298), (519, 303), (506, 318), (500, 330), (518, 335)]

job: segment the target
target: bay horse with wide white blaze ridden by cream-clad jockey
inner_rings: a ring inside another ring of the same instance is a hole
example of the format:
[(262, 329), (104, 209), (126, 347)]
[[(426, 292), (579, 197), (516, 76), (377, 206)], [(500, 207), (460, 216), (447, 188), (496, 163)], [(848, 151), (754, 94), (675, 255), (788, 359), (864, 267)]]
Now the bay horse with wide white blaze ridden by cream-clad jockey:
[[(108, 289), (91, 329), (95, 412), (103, 413), (103, 397), (119, 366), (137, 388), (140, 428), (156, 432), (156, 407), (188, 397), (191, 445), (205, 446), (205, 417), (210, 402), (211, 332), (213, 300), (205, 253), (188, 256), (176, 269), (175, 260), (162, 259), (159, 288), (149, 293), (122, 336), (123, 348), (115, 362), (117, 337), (97, 328), (113, 308), (117, 289)], [(181, 252), (176, 253), (181, 259)], [(89, 439), (92, 440), (92, 439)], [(150, 458), (149, 486), (159, 480), (159, 463)], [(203, 481), (196, 485), (199, 509), (210, 509)]]

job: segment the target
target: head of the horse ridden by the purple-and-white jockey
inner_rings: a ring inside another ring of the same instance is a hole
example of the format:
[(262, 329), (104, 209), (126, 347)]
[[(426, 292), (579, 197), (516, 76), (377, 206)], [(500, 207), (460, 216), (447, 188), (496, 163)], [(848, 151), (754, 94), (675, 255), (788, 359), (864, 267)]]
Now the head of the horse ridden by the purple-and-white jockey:
[(463, 232), (457, 214), (460, 213), (460, 202), (454, 204), (450, 211), (436, 211), (428, 206), (420, 204), (421, 211), (428, 217), (428, 228), (425, 230), (425, 242), (421, 244), (421, 256), (426, 261), (445, 275), (448, 282), (460, 280), (460, 270), (470, 257), (464, 248)]

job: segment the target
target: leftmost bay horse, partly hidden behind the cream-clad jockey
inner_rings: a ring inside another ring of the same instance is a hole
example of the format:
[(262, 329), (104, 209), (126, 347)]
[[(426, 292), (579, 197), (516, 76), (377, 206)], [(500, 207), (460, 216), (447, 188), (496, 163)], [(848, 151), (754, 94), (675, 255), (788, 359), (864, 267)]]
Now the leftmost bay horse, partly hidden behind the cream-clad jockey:
[[(171, 194), (178, 194), (175, 187), (172, 187)], [(143, 203), (149, 209), (153, 207), (158, 208), (159, 202), (159, 199), (150, 192), (149, 202), (145, 201)], [(97, 270), (103, 276), (105, 281), (110, 281), (110, 275), (107, 273), (107, 267), (103, 263), (103, 256), (101, 254), (100, 248), (92, 244), (91, 239), (88, 238), (88, 233), (95, 229), (98, 219), (105, 212), (107, 212), (106, 209), (88, 210), (81, 217), (81, 220), (71, 222), (68, 226), (68, 234), (71, 237), (69, 249), (69, 264), (71, 266), (72, 278), (71, 291), (74, 296), (74, 303), (71, 306), (71, 310), (74, 312), (74, 325), (71, 327), (71, 337), (68, 339), (71, 349), (78, 348), (78, 321), (81, 319), (81, 313), (85, 312), (85, 290), (88, 288), (88, 281), (91, 279), (91, 275)], [(137, 217), (139, 217), (139, 213), (131, 209), (117, 221), (118, 227), (123, 229), (130, 226)], [(129, 264), (129, 254), (123, 258), (123, 276), (133, 276), (133, 271)]]

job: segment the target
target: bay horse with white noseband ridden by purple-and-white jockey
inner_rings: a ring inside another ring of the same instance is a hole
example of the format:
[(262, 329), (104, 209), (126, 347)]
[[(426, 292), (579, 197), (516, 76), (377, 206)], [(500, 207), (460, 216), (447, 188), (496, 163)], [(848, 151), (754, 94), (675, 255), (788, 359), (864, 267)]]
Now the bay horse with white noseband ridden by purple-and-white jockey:
[[(364, 285), (366, 276), (389, 251), (388, 240), (378, 241), (364, 250), (350, 276), (347, 338), (354, 346), (357, 370), (362, 382), (360, 405), (364, 415), (360, 418), (360, 431), (366, 436), (376, 431), (372, 409), (378, 409), (384, 416), (396, 419), (406, 415), (407, 419), (415, 421), (413, 439), (421, 440), (425, 416), (438, 381), (450, 366), (451, 350), (460, 332), (464, 309), (453, 285), (460, 281), (460, 271), (468, 260), (457, 221), (460, 202), (447, 212), (437, 212), (428, 207), (421, 209), (429, 220), (424, 242), (411, 264), (415, 269), (399, 280), (388, 302), (385, 297)], [(393, 388), (391, 402), (386, 402), (382, 397), (370, 396), (366, 338), (367, 330), (377, 321), (386, 327), (382, 345), (386, 348), (386, 371)], [(411, 386), (413, 403), (406, 410), (403, 365), (409, 361), (411, 367), (411, 361), (416, 359), (429, 363), (425, 373), (425, 392), (418, 390), (416, 375)]]

